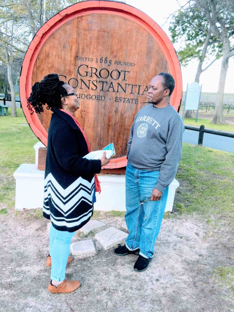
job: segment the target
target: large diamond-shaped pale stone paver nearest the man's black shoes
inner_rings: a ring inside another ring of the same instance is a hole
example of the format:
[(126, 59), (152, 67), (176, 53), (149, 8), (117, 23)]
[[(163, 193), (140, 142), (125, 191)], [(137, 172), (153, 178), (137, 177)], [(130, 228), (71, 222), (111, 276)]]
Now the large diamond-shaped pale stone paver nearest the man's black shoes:
[(101, 243), (104, 249), (109, 249), (128, 236), (127, 233), (116, 229), (116, 227), (108, 227), (108, 229), (98, 232), (95, 239)]

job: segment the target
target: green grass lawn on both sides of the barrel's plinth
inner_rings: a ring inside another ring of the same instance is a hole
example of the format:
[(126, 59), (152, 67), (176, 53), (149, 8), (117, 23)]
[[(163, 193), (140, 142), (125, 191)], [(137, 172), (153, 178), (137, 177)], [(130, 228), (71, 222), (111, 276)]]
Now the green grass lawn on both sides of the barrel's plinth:
[[(34, 163), (34, 144), (38, 139), (29, 128), (21, 109), (17, 118), (0, 117), (0, 211), (6, 214), (14, 206), (14, 171), (22, 163)], [(234, 172), (233, 154), (203, 146), (183, 144), (182, 159), (176, 178), (180, 187), (176, 192), (174, 214), (198, 213), (211, 215), (233, 214)], [(113, 216), (122, 212), (111, 212)]]

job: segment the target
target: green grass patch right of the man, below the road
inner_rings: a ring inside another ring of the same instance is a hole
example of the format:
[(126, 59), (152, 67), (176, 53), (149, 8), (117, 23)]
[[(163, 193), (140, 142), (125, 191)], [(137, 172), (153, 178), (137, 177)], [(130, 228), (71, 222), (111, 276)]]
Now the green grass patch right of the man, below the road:
[(233, 221), (234, 154), (183, 143), (176, 175), (180, 187), (175, 206), (179, 213), (221, 215)]

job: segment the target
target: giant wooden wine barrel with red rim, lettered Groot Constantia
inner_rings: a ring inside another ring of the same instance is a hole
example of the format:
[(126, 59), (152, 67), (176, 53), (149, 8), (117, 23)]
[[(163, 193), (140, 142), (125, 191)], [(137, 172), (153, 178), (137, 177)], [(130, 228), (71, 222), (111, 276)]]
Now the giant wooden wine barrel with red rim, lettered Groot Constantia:
[(22, 108), (32, 131), (47, 145), (51, 111), (31, 114), (27, 98), (36, 81), (57, 73), (79, 94), (80, 109), (75, 117), (91, 150), (113, 142), (116, 156), (105, 168), (121, 168), (126, 165), (134, 116), (147, 105), (147, 85), (161, 71), (175, 78), (171, 104), (178, 110), (180, 65), (158, 24), (124, 3), (76, 3), (48, 20), (28, 47), (20, 77)]

